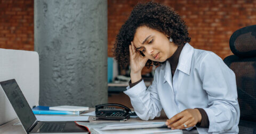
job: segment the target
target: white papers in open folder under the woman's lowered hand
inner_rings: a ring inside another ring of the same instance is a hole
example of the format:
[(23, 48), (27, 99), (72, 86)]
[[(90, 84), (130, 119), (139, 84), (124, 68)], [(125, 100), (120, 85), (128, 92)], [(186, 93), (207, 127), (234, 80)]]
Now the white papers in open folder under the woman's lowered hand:
[(167, 128), (165, 122), (76, 123), (79, 126), (86, 127), (91, 133), (182, 133), (182, 130), (171, 130)]

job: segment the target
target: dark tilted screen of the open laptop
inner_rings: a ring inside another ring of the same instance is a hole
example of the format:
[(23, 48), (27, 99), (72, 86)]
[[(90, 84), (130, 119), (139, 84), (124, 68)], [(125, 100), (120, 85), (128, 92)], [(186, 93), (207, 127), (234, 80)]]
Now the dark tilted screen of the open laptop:
[(14, 111), (17, 113), (22, 126), (26, 131), (33, 125), (36, 121), (36, 117), (30, 106), (22, 94), (19, 85), (15, 79), (10, 79), (8, 81), (0, 82), (6, 96), (12, 104)]

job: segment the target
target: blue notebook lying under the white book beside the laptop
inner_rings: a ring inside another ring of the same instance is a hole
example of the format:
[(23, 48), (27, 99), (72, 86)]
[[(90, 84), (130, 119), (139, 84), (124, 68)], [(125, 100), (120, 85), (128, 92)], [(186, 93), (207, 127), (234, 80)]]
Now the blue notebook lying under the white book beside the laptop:
[(32, 109), (34, 114), (76, 114), (79, 115), (81, 111), (57, 111), (57, 110), (49, 110), (49, 106), (36, 106)]

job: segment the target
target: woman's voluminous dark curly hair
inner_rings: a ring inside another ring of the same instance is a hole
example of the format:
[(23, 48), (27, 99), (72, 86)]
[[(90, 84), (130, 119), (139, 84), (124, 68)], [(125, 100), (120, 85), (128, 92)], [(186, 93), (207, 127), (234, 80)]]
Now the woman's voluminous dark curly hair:
[[(129, 65), (129, 45), (139, 26), (147, 26), (164, 33), (178, 46), (190, 41), (185, 22), (172, 8), (152, 1), (137, 4), (119, 30), (114, 44), (115, 59), (123, 68)], [(153, 62), (154, 65), (158, 64)], [(151, 64), (152, 61), (148, 60), (146, 66), (150, 67)]]

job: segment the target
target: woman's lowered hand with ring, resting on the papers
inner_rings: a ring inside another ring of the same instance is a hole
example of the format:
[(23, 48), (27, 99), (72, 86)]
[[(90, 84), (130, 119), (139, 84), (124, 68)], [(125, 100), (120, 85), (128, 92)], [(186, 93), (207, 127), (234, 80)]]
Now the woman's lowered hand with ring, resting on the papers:
[(166, 120), (166, 125), (168, 128), (172, 129), (186, 129), (189, 127), (194, 127), (196, 123), (201, 122), (202, 115), (197, 109), (186, 109), (176, 115), (171, 119)]

